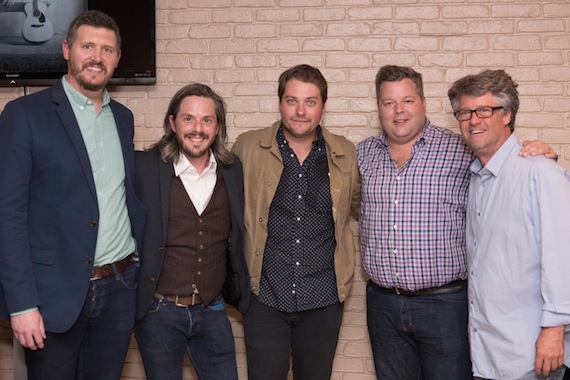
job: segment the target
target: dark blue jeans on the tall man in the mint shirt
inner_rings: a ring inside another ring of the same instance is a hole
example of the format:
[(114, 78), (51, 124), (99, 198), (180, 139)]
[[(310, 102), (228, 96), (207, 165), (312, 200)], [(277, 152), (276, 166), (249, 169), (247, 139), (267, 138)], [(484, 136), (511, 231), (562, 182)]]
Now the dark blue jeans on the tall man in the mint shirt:
[(29, 380), (121, 378), (135, 322), (137, 268), (91, 281), (83, 309), (65, 333), (47, 333), (42, 350), (25, 350)]

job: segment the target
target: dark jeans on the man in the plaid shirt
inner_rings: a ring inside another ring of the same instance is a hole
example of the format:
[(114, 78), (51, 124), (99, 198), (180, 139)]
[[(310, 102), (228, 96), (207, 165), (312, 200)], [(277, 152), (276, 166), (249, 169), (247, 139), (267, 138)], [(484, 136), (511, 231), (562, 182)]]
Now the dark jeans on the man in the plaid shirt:
[(378, 379), (471, 380), (467, 289), (401, 296), (366, 288), (368, 332)]

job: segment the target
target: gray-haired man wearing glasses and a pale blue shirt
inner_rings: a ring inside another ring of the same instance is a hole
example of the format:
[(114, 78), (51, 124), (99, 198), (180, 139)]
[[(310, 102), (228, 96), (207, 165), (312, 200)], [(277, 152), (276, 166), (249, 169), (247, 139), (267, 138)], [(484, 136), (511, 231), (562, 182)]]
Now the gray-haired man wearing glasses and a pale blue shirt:
[(448, 95), (476, 159), (467, 202), (469, 337), (478, 379), (550, 379), (570, 364), (570, 181), (522, 158), (517, 84), (503, 70), (456, 81)]

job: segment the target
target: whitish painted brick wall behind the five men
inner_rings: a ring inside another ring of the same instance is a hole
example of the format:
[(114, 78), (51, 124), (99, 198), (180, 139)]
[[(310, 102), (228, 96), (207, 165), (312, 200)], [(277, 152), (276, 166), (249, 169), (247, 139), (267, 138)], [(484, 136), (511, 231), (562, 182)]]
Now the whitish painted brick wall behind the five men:
[[(323, 124), (358, 143), (378, 133), (374, 76), (385, 64), (424, 74), (428, 116), (456, 130), (447, 88), (486, 68), (519, 83), (522, 138), (540, 138), (570, 169), (570, 3), (566, 0), (157, 0), (155, 86), (113, 89), (135, 114), (135, 145), (162, 134), (164, 112), (183, 85), (200, 81), (228, 103), (231, 142), (277, 120), (277, 79), (308, 63), (329, 81)], [(30, 89), (32, 92), (38, 89)], [(0, 110), (23, 95), (0, 88)], [(356, 230), (356, 223), (353, 223)], [(334, 380), (372, 380), (365, 276), (358, 266), (345, 305)], [(241, 379), (247, 378), (243, 329), (231, 313)], [(11, 332), (0, 324), (0, 380), (12, 379)], [(123, 379), (144, 378), (136, 342)], [(189, 365), (185, 379), (195, 379)]]

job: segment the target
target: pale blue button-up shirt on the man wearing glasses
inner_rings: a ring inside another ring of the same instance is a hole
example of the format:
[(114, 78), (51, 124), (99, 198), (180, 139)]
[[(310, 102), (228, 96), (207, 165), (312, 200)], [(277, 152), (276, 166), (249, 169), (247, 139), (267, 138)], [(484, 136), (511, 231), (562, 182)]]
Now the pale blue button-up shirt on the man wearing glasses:
[[(534, 369), (541, 327), (570, 324), (570, 181), (515, 135), (471, 165), (467, 208), (469, 336), (475, 376)], [(565, 364), (570, 364), (566, 328)]]

